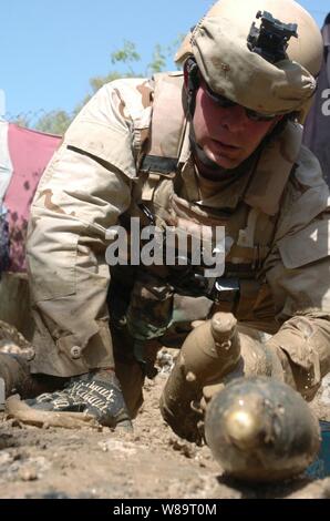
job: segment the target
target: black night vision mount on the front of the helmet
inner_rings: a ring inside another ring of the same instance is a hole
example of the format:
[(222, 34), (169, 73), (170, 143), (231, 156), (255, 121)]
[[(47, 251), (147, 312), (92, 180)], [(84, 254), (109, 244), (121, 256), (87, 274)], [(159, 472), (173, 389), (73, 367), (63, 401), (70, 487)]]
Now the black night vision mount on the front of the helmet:
[(260, 54), (270, 63), (285, 60), (290, 38), (298, 38), (298, 24), (282, 23), (267, 11), (258, 11), (256, 18), (261, 18), (261, 24), (260, 29), (255, 22), (251, 25), (247, 39), (249, 50)]

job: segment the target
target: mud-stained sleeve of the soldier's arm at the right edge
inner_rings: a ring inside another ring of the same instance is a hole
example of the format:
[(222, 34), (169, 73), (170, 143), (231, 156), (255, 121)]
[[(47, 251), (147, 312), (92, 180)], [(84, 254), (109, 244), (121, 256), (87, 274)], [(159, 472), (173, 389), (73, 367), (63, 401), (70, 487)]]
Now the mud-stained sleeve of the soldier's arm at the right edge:
[(282, 324), (270, 344), (289, 357), (307, 398), (330, 370), (330, 198), (314, 161), (303, 152), (265, 266)]

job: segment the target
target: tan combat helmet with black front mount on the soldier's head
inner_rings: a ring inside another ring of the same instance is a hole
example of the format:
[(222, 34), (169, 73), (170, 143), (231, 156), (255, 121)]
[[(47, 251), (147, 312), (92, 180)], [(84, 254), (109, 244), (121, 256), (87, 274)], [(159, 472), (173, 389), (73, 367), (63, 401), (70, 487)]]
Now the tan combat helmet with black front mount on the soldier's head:
[(175, 60), (193, 58), (215, 94), (265, 115), (296, 113), (303, 122), (322, 52), (316, 21), (293, 0), (219, 0)]

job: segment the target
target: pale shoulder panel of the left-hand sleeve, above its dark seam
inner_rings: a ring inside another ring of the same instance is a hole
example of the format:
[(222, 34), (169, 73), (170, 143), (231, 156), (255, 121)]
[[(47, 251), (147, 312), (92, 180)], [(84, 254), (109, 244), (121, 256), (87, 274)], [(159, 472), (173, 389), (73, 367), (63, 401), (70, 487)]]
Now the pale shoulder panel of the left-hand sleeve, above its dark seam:
[(65, 133), (64, 143), (136, 176), (136, 156), (151, 124), (152, 84), (144, 79), (104, 85)]

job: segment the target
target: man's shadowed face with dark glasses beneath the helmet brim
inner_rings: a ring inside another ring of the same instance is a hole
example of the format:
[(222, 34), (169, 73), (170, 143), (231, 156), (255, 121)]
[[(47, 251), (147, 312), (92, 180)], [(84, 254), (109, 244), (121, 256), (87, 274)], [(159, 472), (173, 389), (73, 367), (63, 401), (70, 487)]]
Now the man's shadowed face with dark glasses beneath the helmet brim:
[(252, 121), (240, 105), (219, 106), (200, 82), (193, 119), (196, 142), (223, 168), (236, 168), (247, 160), (280, 119)]

